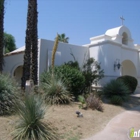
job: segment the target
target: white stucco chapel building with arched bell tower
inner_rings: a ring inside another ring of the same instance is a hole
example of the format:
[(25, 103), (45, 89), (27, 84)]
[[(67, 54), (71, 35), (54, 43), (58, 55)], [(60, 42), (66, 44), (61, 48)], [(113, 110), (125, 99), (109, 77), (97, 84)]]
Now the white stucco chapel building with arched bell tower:
[[(54, 41), (38, 40), (38, 76), (47, 70), (51, 63)], [(25, 47), (5, 55), (4, 72), (10, 73), (18, 82), (22, 76), (23, 56)], [(99, 87), (122, 75), (134, 76), (138, 80), (137, 91), (140, 91), (140, 45), (133, 43), (131, 31), (126, 26), (107, 30), (103, 35), (90, 38), (89, 44), (78, 46), (59, 42), (55, 65), (73, 61), (71, 51), (80, 65), (86, 58), (93, 57), (101, 63), (104, 78)]]

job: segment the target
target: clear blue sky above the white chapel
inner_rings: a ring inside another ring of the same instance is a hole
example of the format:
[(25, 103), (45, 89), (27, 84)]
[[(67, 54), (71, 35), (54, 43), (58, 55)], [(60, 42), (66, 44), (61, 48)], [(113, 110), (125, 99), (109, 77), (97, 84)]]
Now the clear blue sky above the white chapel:
[[(28, 0), (6, 0), (4, 30), (25, 44)], [(70, 44), (84, 45), (89, 38), (124, 25), (140, 44), (140, 0), (38, 0), (38, 38), (54, 40), (65, 33)]]

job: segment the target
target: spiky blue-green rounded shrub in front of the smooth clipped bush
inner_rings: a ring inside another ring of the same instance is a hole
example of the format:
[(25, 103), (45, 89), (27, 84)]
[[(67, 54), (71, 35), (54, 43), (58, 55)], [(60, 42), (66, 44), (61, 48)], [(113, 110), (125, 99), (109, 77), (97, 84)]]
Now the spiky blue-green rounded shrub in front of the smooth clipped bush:
[(125, 101), (128, 99), (129, 93), (128, 87), (120, 80), (111, 80), (103, 87), (103, 94), (109, 99), (113, 96), (119, 96), (122, 101)]

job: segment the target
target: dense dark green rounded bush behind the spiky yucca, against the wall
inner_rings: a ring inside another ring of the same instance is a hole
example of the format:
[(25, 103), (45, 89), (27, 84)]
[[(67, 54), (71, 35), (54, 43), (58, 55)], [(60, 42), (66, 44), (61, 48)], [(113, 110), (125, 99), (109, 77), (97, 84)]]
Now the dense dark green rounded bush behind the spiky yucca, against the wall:
[(68, 90), (77, 98), (82, 93), (85, 78), (82, 72), (68, 65), (61, 65), (55, 68), (55, 73), (66, 81)]

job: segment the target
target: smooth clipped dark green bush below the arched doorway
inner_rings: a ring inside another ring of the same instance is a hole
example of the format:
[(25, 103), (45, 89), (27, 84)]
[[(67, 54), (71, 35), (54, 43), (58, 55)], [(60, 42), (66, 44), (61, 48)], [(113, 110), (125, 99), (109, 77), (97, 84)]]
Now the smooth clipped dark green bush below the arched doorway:
[(129, 90), (131, 91), (131, 93), (134, 93), (134, 91), (136, 90), (136, 87), (138, 85), (138, 81), (135, 77), (132, 76), (121, 76), (119, 78), (117, 78), (117, 80), (121, 80), (124, 82), (124, 84), (126, 86), (128, 86)]

